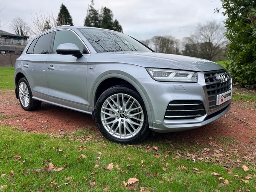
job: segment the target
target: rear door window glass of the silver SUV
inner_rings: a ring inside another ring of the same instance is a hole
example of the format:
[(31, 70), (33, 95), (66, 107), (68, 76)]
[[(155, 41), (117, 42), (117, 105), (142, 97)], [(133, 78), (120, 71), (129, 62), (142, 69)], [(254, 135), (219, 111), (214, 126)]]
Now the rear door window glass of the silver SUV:
[(42, 35), (35, 44), (34, 54), (50, 53), (53, 32)]

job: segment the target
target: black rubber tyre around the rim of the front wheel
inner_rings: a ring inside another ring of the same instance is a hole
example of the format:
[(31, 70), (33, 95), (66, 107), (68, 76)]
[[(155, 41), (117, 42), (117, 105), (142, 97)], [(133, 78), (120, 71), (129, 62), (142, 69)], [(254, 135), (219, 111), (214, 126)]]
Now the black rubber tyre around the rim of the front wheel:
[[(136, 99), (140, 103), (140, 105), (143, 109), (143, 115), (144, 115), (143, 127), (141, 128), (140, 132), (137, 135), (135, 135), (134, 137), (129, 138), (129, 139), (118, 139), (116, 137), (113, 137), (111, 134), (108, 133), (108, 131), (102, 125), (102, 121), (101, 121), (102, 105), (106, 99), (108, 99), (110, 96), (117, 94), (117, 93), (123, 93), (123, 94), (127, 94), (129, 96), (132, 96), (134, 99)], [(135, 144), (135, 143), (139, 143), (140, 141), (142, 141), (149, 133), (148, 115), (147, 115), (147, 111), (145, 109), (144, 102), (143, 102), (142, 98), (140, 97), (140, 95), (136, 91), (134, 91), (128, 87), (119, 85), (119, 86), (114, 86), (114, 87), (109, 88), (104, 93), (102, 93), (102, 95), (99, 97), (95, 108), (96, 108), (95, 109), (95, 120), (96, 120), (96, 124), (99, 128), (99, 131), (102, 133), (102, 135), (104, 137), (106, 137), (110, 141), (113, 141), (116, 143), (121, 143), (121, 144)]]

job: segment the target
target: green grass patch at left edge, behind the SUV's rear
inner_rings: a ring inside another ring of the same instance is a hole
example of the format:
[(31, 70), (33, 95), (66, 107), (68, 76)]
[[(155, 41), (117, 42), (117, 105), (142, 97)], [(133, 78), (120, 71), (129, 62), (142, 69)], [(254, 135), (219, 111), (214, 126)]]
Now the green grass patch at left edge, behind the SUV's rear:
[(0, 89), (15, 89), (14, 67), (0, 67)]

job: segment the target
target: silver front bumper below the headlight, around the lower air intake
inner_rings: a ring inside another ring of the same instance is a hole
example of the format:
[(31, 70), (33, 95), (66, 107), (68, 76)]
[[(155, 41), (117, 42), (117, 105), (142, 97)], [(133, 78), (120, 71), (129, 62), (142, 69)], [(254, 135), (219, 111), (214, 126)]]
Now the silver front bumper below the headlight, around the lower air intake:
[[(198, 73), (198, 83), (159, 82), (140, 79), (149, 104), (148, 115), (152, 117), (152, 131), (159, 133), (186, 131), (206, 125), (230, 110), (231, 99), (215, 108), (209, 107), (204, 74)], [(196, 101), (204, 105), (205, 114), (192, 118), (166, 119), (165, 113), (170, 102)]]

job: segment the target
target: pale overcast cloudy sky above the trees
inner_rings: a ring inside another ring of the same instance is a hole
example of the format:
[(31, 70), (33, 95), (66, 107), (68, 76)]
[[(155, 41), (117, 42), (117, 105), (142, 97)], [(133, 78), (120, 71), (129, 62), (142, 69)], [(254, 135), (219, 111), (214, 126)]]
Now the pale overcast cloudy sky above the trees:
[[(57, 16), (61, 3), (70, 12), (74, 25), (83, 26), (90, 0), (0, 0), (0, 10), (5, 7), (0, 12), (0, 29), (14, 33), (10, 29), (12, 19), (20, 17), (32, 23), (32, 15), (40, 11)], [(123, 32), (138, 40), (154, 35), (181, 39), (189, 36), (198, 23), (225, 19), (221, 13), (214, 13), (221, 7), (220, 0), (94, 0), (94, 4), (95, 9), (111, 9)]]

